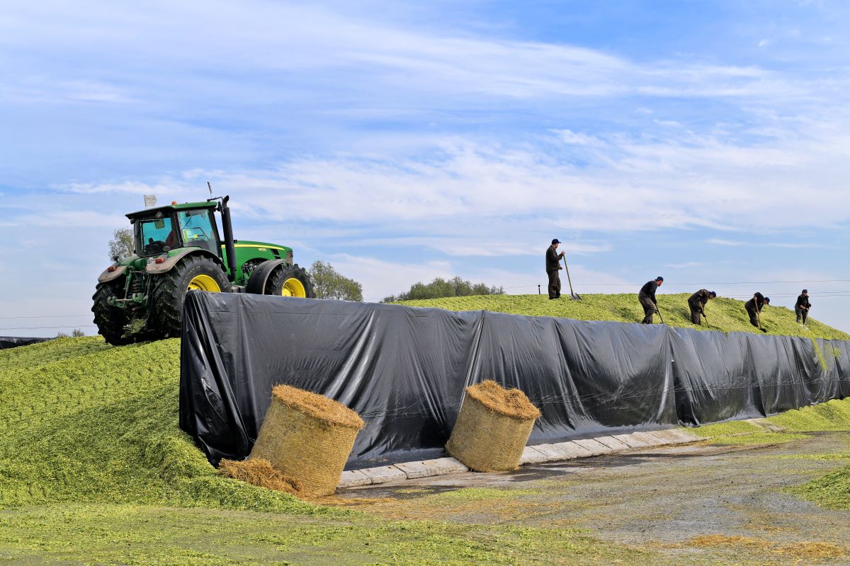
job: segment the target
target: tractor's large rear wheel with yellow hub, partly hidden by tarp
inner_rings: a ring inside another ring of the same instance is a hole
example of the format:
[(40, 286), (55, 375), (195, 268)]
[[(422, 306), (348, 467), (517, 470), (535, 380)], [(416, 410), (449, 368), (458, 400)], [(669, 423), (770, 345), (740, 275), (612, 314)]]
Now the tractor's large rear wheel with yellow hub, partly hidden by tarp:
[(227, 274), (212, 259), (202, 255), (184, 258), (170, 271), (156, 277), (149, 328), (166, 338), (178, 337), (183, 322), (183, 301), (192, 289), (229, 293), (231, 286)]

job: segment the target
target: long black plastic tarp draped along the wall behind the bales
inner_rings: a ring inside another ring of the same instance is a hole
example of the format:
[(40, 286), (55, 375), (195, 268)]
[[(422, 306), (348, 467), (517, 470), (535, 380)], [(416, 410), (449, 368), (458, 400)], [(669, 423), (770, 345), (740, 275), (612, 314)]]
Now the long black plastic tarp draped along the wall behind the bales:
[(467, 385), (541, 409), (530, 444), (759, 417), (850, 395), (850, 347), (664, 325), (190, 292), (180, 426), (210, 462), (241, 459), (275, 384), (327, 395), (366, 426), (348, 468), (439, 455)]

